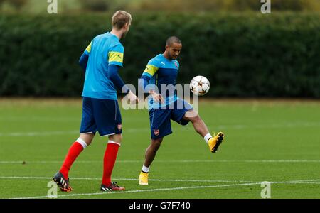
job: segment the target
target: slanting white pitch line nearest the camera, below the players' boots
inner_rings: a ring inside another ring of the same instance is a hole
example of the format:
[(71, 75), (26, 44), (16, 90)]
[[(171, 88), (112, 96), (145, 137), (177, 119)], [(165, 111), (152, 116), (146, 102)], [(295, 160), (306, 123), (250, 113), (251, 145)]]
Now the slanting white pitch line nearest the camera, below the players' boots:
[[(293, 184), (305, 184), (306, 182), (296, 182), (294, 181), (281, 181), (281, 182), (270, 182), (272, 184), (281, 184), (281, 183), (293, 183)], [(309, 182), (308, 182), (309, 183)], [(317, 184), (317, 183), (316, 183)], [(261, 182), (247, 182), (240, 184), (229, 184), (229, 185), (208, 185), (208, 186), (191, 186), (191, 187), (172, 187), (172, 188), (158, 188), (151, 190), (129, 190), (122, 192), (96, 192), (96, 193), (79, 193), (79, 194), (69, 194), (69, 195), (58, 195), (59, 197), (75, 197), (75, 196), (91, 196), (91, 195), (115, 195), (116, 193), (139, 193), (139, 192), (159, 192), (159, 191), (173, 191), (173, 190), (188, 190), (188, 189), (203, 189), (203, 188), (219, 188), (219, 187), (238, 187), (238, 186), (247, 186), (247, 185), (261, 185)], [(48, 198), (47, 196), (37, 196), (37, 197), (14, 197), (11, 199), (40, 199)]]

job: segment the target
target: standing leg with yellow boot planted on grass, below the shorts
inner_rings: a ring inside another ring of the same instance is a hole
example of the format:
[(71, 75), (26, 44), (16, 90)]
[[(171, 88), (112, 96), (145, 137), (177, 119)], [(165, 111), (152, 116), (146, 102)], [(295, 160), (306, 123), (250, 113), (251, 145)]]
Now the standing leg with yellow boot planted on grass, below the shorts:
[(149, 169), (152, 161), (154, 161), (154, 158), (156, 157), (156, 151), (161, 146), (163, 138), (159, 139), (151, 139), (151, 144), (146, 148), (146, 154), (145, 154), (145, 160), (144, 165), (142, 166), (142, 171), (139, 175), (139, 185), (148, 185), (148, 175), (149, 175)]

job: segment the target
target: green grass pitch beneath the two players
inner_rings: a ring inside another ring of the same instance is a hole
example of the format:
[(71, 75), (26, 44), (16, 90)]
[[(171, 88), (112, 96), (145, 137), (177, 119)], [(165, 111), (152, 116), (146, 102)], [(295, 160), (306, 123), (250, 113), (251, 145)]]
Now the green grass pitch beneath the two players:
[[(149, 146), (145, 110), (122, 110), (123, 141), (112, 181), (125, 192), (100, 192), (107, 138), (96, 136), (70, 171), (73, 192), (58, 198), (320, 198), (320, 102), (202, 100), (210, 131), (225, 133), (210, 153), (192, 124), (172, 122), (149, 173), (138, 184)], [(78, 138), (80, 99), (0, 100), (0, 198), (46, 198), (48, 182)], [(24, 162), (24, 163), (23, 163)]]

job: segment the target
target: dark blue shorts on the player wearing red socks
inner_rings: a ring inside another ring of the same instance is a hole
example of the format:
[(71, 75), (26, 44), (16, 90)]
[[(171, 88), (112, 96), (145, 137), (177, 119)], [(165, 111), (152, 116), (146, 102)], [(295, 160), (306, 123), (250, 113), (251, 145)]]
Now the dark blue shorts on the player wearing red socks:
[(80, 133), (110, 136), (122, 133), (122, 121), (117, 100), (83, 97)]

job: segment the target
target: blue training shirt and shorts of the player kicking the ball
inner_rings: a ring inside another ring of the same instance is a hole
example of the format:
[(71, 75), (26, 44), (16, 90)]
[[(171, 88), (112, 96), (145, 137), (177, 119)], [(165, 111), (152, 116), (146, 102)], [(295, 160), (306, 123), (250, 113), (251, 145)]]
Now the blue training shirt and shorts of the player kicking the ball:
[[(154, 102), (149, 97), (149, 119), (151, 128), (151, 138), (158, 139), (172, 133), (171, 120), (178, 124), (186, 125), (189, 121), (183, 119), (186, 111), (193, 109), (191, 104), (180, 99), (175, 89), (167, 89), (168, 85), (176, 86), (179, 63), (177, 60), (169, 60), (163, 54), (149, 60), (146, 69), (142, 73), (140, 87), (148, 92), (149, 89), (158, 89), (158, 93), (164, 97), (164, 103)], [(143, 83), (143, 85), (142, 85)], [(166, 86), (162, 87), (161, 85)], [(155, 87), (156, 86), (156, 87)], [(147, 89), (146, 89), (147, 88)]]

